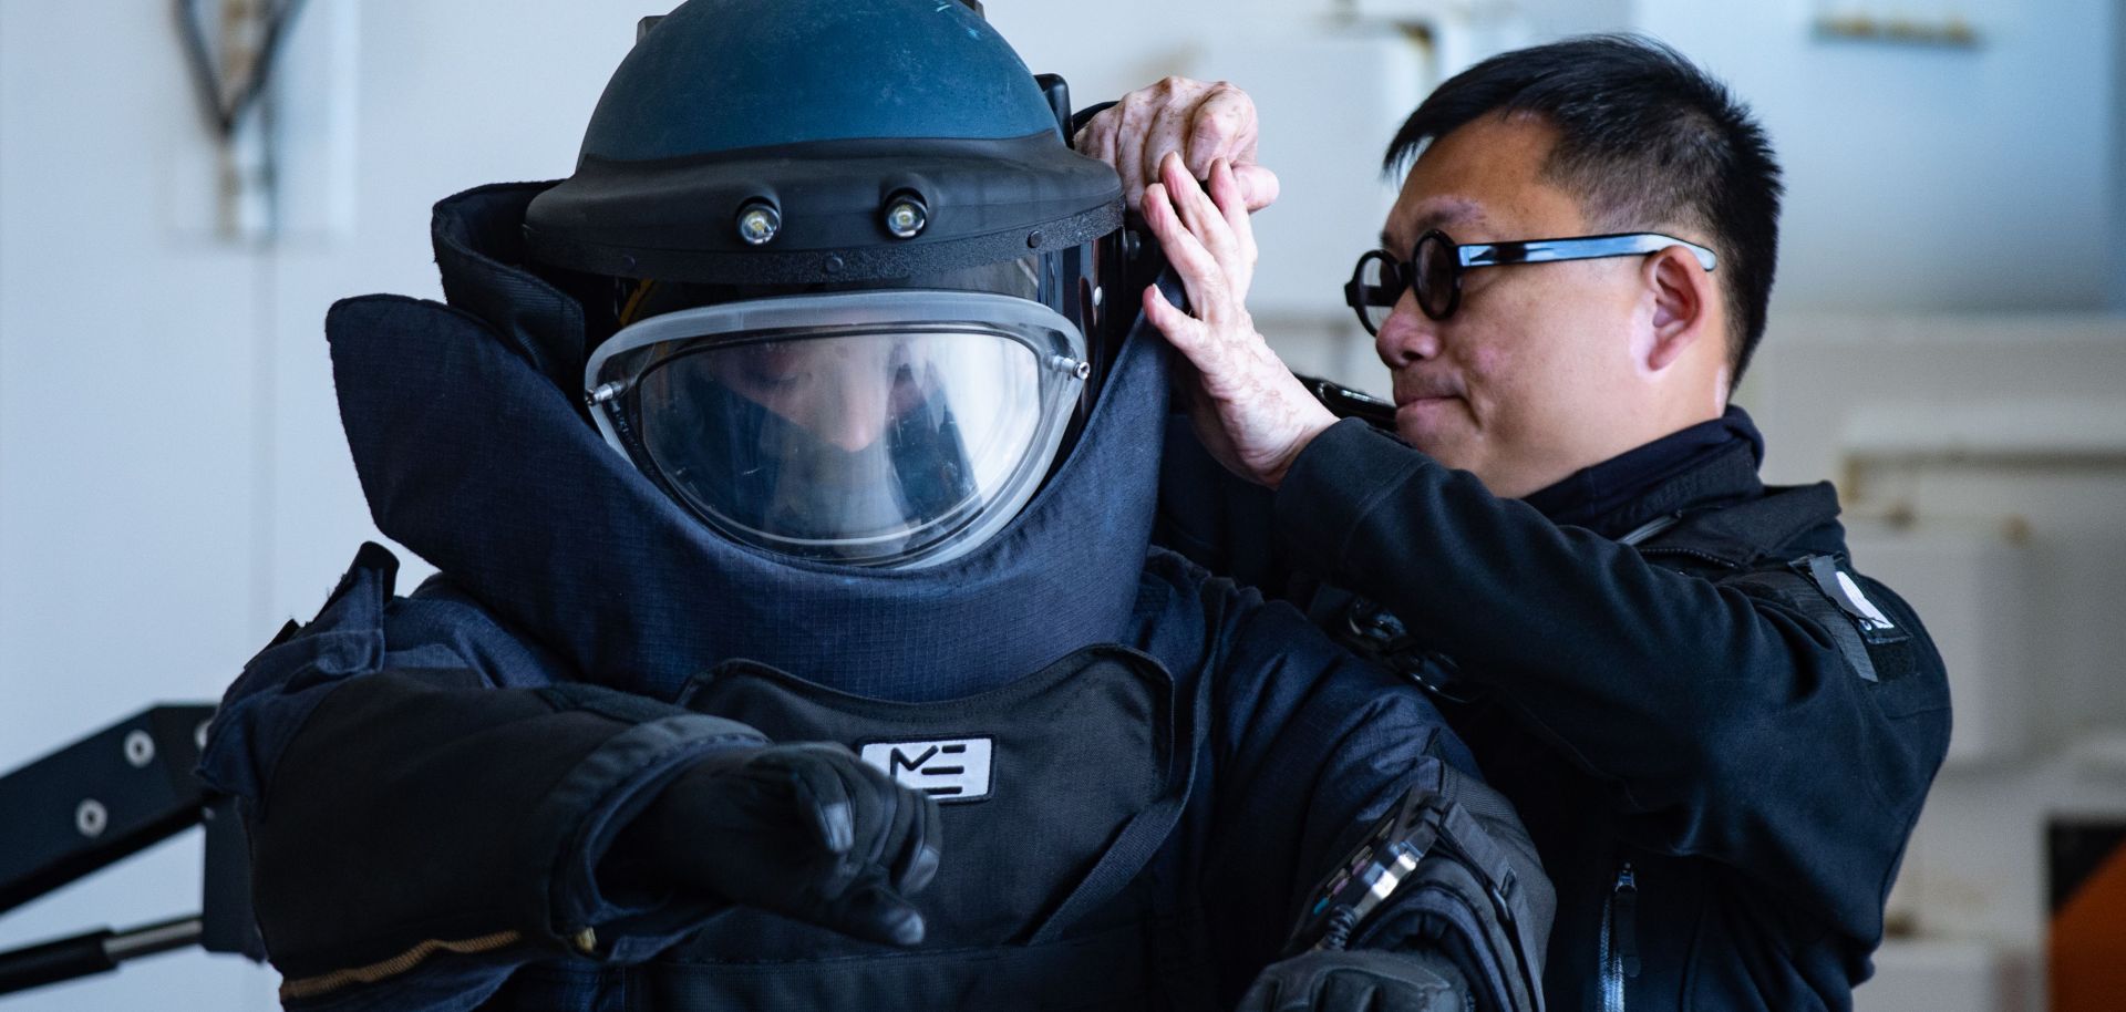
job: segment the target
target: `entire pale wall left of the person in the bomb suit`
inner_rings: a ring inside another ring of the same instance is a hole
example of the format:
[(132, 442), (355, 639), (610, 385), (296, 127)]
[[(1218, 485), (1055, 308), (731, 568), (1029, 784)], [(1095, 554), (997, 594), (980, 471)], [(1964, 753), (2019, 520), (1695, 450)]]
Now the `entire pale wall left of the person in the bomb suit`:
[[(317, 610), (376, 536), (325, 308), (436, 296), (436, 198), (568, 174), (642, 13), (310, 0), (291, 64), (355, 62), (351, 191), (327, 193), (351, 227), (253, 249), (206, 230), (213, 142), (168, 4), (0, 4), (0, 770), (155, 699), (219, 697)], [(6, 914), (0, 948), (196, 910), (196, 840)], [(170, 955), (6, 1008), (274, 1008), (272, 986)]]

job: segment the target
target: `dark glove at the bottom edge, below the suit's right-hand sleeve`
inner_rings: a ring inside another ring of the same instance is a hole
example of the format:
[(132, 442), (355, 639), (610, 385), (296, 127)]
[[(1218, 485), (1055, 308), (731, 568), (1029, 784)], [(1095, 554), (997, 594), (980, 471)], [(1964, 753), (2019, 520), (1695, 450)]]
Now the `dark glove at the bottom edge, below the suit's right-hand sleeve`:
[(1322, 950), (1269, 963), (1239, 1012), (1469, 1012), (1461, 969), (1437, 952)]

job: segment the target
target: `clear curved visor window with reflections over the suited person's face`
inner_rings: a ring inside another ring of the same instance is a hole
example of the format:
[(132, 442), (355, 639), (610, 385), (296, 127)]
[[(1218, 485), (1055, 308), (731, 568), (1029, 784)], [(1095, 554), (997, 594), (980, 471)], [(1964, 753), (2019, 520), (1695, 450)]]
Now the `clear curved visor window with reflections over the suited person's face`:
[(1037, 372), (1031, 349), (986, 334), (702, 349), (642, 376), (642, 442), (755, 544), (897, 555), (1010, 478), (1040, 425)]

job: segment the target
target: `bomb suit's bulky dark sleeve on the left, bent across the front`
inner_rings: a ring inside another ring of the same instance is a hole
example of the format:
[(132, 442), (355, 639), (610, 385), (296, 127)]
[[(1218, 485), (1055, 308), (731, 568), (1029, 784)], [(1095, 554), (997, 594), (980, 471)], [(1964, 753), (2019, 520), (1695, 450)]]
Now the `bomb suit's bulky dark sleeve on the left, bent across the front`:
[(491, 623), (474, 608), (393, 597), (395, 568), (366, 544), (208, 729), (200, 774), (244, 810), (283, 1001), (461, 1010), (521, 963), (640, 961), (697, 927), (712, 910), (606, 889), (597, 867), (693, 759), (761, 736), (549, 682), (519, 640), (470, 636)]

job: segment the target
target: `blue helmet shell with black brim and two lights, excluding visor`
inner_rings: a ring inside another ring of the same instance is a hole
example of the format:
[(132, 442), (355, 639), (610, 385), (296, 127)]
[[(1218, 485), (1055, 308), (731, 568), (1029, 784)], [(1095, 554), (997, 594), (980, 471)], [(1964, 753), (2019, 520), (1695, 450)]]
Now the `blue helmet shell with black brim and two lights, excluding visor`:
[[(887, 225), (906, 193), (927, 210), (914, 236)], [(740, 236), (753, 204), (776, 210), (767, 242)], [(591, 274), (810, 285), (1046, 253), (1120, 221), (1114, 170), (1069, 151), (959, 0), (691, 0), (612, 74), (525, 240)]]

